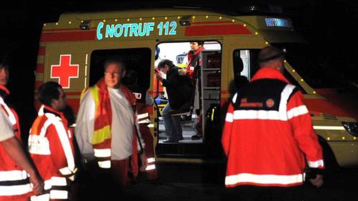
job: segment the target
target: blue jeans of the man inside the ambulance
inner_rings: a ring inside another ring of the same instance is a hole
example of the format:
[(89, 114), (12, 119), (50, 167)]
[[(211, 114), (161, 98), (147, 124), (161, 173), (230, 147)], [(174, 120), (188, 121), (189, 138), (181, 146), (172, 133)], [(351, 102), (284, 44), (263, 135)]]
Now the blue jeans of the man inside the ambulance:
[(166, 135), (168, 136), (169, 141), (177, 141), (183, 139), (183, 130), (182, 125), (180, 124), (180, 116), (171, 116), (170, 115), (170, 105), (169, 103), (163, 108), (161, 116), (163, 116), (164, 127)]

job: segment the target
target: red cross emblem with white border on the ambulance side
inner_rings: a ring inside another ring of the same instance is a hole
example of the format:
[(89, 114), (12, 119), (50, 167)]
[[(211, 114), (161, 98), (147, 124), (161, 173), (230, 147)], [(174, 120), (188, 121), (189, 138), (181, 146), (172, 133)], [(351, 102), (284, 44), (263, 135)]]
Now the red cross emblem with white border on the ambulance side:
[(51, 65), (51, 78), (58, 78), (62, 88), (68, 89), (70, 78), (78, 78), (78, 64), (71, 64), (71, 54), (61, 54), (59, 65)]

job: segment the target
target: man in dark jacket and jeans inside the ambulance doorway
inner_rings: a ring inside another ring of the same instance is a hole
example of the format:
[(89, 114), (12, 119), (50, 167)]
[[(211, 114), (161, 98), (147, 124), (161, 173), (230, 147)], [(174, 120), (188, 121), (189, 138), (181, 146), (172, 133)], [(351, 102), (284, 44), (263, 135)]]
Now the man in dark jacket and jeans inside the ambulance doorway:
[(171, 60), (161, 60), (158, 68), (166, 74), (166, 79), (163, 78), (161, 73), (156, 73), (156, 78), (163, 83), (163, 87), (166, 87), (169, 99), (162, 112), (165, 131), (168, 136), (168, 140), (164, 142), (177, 143), (179, 140), (183, 140), (180, 116), (171, 116), (170, 111), (172, 109), (189, 110), (193, 87), (186, 75), (179, 75), (179, 68)]

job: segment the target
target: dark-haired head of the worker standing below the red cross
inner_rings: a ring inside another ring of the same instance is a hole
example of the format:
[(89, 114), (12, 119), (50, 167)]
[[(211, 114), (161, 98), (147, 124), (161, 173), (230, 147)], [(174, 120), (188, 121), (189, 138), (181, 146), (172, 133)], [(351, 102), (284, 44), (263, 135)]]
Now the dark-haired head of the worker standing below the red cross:
[(66, 108), (66, 95), (57, 82), (50, 81), (42, 84), (39, 88), (38, 97), (40, 103), (57, 111), (64, 111)]

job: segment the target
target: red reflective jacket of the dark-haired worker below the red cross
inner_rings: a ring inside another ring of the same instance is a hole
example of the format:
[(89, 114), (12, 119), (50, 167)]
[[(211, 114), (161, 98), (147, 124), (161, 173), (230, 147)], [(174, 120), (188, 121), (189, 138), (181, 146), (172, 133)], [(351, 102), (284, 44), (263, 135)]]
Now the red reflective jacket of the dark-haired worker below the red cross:
[(45, 182), (42, 197), (67, 199), (69, 179), (76, 172), (72, 130), (63, 113), (42, 106), (29, 135), (29, 152)]

